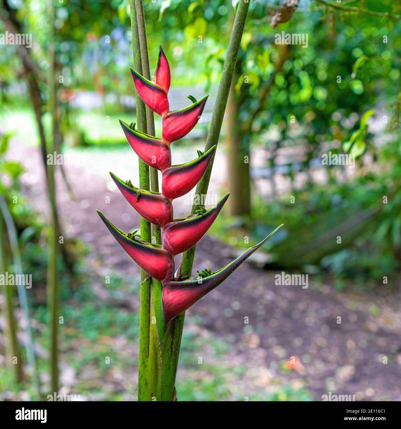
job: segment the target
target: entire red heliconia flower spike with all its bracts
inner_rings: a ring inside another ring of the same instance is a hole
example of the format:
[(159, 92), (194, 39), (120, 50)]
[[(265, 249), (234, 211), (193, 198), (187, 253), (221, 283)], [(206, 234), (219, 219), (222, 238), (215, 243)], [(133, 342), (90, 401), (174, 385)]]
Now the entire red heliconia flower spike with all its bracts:
[[(162, 172), (162, 193), (150, 192), (134, 187), (130, 181), (123, 182), (110, 173), (118, 189), (132, 207), (152, 224), (159, 225), (163, 231), (163, 246), (152, 245), (136, 239), (132, 234), (124, 234), (108, 221), (102, 213), (99, 216), (121, 247), (148, 275), (163, 284), (162, 302), (165, 322), (186, 311), (209, 291), (222, 283), (254, 251), (256, 251), (276, 230), (258, 245), (248, 249), (236, 260), (217, 272), (202, 270), (198, 277), (185, 280), (181, 275), (174, 278), (175, 255), (192, 248), (204, 236), (216, 219), (229, 194), (226, 194), (215, 207), (208, 211), (199, 209), (198, 215), (173, 221), (172, 199), (189, 192), (202, 178), (216, 149), (214, 145), (205, 154), (186, 164), (171, 165), (170, 143), (181, 139), (198, 122), (208, 96), (181, 110), (169, 112), (167, 92), (170, 88), (170, 67), (160, 47), (155, 82), (150, 82), (131, 69), (136, 91), (144, 103), (163, 118), (162, 139), (148, 136), (120, 121), (125, 136), (136, 154), (149, 166)], [(281, 225), (280, 225), (281, 226)], [(280, 228), (280, 227), (279, 227)]]

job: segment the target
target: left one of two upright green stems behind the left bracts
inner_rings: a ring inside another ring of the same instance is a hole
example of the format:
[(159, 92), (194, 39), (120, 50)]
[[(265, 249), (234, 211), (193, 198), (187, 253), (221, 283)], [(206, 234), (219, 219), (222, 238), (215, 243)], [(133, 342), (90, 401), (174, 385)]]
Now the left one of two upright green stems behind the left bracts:
[[(138, 21), (136, 17), (135, 1), (130, 0), (131, 34), (133, 45), (134, 67), (138, 73), (142, 71), (142, 58), (138, 34)], [(148, 131), (145, 103), (138, 93), (136, 97), (136, 124), (140, 131)], [(150, 190), (149, 166), (139, 158), (139, 187)], [(141, 217), (141, 238), (151, 242), (151, 224)], [(151, 365), (149, 362), (151, 347), (150, 323), (151, 323), (151, 278), (141, 269), (141, 297), (139, 311), (139, 369), (138, 369), (138, 400), (151, 401), (152, 391), (149, 382)]]

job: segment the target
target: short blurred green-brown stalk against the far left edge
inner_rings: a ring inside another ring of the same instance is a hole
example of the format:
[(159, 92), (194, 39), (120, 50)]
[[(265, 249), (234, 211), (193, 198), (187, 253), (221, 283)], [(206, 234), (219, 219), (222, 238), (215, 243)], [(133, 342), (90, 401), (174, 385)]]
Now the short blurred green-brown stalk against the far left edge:
[[(6, 275), (7, 260), (6, 260), (6, 232), (4, 230), (3, 215), (0, 211), (0, 274)], [(12, 286), (4, 285), (4, 297), (5, 297), (5, 313), (7, 319), (7, 333), (9, 337), (9, 357), (16, 358), (17, 363), (11, 363), (10, 368), (14, 372), (15, 384), (21, 383), (22, 381), (22, 361), (21, 354), (18, 347), (17, 340), (17, 324), (14, 317), (14, 304), (12, 302), (13, 293)]]

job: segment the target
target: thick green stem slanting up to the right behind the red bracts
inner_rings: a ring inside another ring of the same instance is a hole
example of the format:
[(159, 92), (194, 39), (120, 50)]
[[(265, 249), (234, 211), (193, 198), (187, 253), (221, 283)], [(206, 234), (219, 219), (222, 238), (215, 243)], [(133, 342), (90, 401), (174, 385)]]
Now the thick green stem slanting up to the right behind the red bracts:
[[(232, 33), (226, 54), (226, 60), (223, 67), (223, 74), (221, 76), (216, 102), (214, 103), (208, 138), (206, 140), (205, 152), (208, 151), (212, 146), (217, 145), (218, 139), (220, 137), (221, 124), (223, 123), (224, 112), (226, 110), (232, 76), (234, 74), (235, 63), (237, 62), (238, 51), (241, 44), (242, 33), (244, 32), (244, 26), (247, 18), (249, 4), (250, 1), (245, 2), (244, 0), (240, 0), (238, 2), (234, 25), (232, 28)], [(196, 187), (196, 194), (198, 195), (205, 194), (208, 191), (213, 161), (214, 157), (212, 158), (208, 169), (206, 170), (202, 179), (199, 181), (198, 186)], [(194, 214), (198, 208), (199, 206), (196, 205), (194, 201), (191, 213)], [(191, 275), (193, 257), (195, 256), (195, 248), (196, 246), (193, 246), (193, 248), (186, 251), (182, 257), (182, 275)], [(169, 362), (168, 368), (165, 368), (163, 365), (163, 398), (165, 398), (164, 400), (171, 401), (172, 397), (174, 396), (175, 375), (178, 366), (178, 356), (180, 353), (184, 318), (185, 313), (180, 314), (178, 317), (175, 317), (175, 319), (173, 319), (167, 325), (166, 332), (163, 336), (162, 360), (163, 363), (165, 362), (165, 359)]]

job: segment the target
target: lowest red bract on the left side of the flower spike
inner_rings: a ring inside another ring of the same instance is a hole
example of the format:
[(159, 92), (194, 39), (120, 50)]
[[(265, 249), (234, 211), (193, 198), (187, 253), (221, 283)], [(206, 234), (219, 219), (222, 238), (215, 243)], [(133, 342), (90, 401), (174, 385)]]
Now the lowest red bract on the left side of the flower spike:
[(173, 278), (174, 259), (168, 251), (157, 245), (128, 238), (127, 234), (115, 227), (103, 213), (96, 211), (118, 244), (148, 275), (162, 282)]

